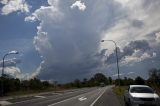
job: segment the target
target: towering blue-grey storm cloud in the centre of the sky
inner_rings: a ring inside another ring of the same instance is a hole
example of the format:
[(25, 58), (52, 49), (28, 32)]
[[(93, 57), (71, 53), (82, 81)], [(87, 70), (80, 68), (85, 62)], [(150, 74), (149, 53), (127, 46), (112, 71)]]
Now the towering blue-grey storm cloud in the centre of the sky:
[[(116, 22), (109, 17), (120, 14), (115, 8), (118, 5), (112, 0), (82, 1), (86, 9), (81, 11), (72, 8), (74, 1), (49, 0), (48, 3), (49, 6), (32, 14), (41, 22), (34, 38), (35, 47), (43, 57), (38, 76), (55, 80), (63, 77), (62, 80), (68, 81), (95, 73), (103, 64), (96, 55), (101, 33)], [(115, 12), (109, 14), (110, 10)], [(106, 19), (109, 20), (104, 23)]]

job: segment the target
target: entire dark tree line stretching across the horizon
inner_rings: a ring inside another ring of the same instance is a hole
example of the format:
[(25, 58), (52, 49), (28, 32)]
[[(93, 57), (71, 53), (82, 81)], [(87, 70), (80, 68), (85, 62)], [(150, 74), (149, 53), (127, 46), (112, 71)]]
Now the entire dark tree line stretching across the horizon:
[[(149, 78), (147, 80), (140, 76), (135, 79), (132, 78), (121, 78), (120, 85), (132, 85), (132, 84), (147, 84), (154, 87), (160, 87), (160, 69), (149, 70)], [(32, 78), (29, 80), (20, 80), (18, 78), (11, 78), (8, 75), (0, 77), (0, 89), (2, 89), (2, 78), (3, 78), (3, 88), (4, 93), (17, 92), (17, 91), (43, 91), (43, 90), (60, 90), (60, 89), (70, 89), (70, 88), (82, 88), (82, 87), (94, 87), (94, 86), (104, 86), (115, 84), (118, 85), (118, 79), (113, 80), (111, 77), (106, 77), (102, 73), (96, 73), (91, 78), (84, 78), (83, 80), (76, 79), (70, 83), (58, 84), (49, 83), (48, 81), (41, 81), (38, 78)]]

